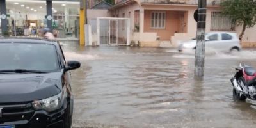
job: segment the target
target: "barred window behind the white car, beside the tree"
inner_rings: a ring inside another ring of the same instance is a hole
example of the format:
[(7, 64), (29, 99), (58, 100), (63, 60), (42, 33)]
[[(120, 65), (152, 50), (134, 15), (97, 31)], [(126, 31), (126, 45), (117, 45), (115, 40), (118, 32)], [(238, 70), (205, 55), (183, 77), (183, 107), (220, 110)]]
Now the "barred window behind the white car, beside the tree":
[(221, 12), (212, 12), (211, 31), (236, 31), (236, 24)]

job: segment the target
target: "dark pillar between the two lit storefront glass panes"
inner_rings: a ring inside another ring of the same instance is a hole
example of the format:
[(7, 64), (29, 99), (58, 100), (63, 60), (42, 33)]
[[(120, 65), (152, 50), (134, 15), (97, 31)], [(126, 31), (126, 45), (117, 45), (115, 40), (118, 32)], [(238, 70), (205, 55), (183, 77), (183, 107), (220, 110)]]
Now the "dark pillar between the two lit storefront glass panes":
[(47, 28), (52, 31), (52, 0), (46, 0)]

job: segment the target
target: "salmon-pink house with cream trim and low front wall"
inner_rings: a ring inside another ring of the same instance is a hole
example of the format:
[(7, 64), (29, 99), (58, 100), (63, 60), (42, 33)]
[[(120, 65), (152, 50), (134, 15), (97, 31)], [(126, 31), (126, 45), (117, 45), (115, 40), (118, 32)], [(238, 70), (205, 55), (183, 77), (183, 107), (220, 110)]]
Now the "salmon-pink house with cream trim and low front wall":
[[(241, 27), (220, 13), (221, 0), (207, 0), (206, 31), (234, 31)], [(142, 46), (158, 47), (175, 45), (196, 35), (193, 14), (198, 0), (116, 0), (110, 9), (112, 17), (128, 17), (131, 24), (131, 40)], [(248, 29), (243, 42), (255, 42), (250, 35), (256, 28)], [(171, 43), (170, 43), (171, 42)]]

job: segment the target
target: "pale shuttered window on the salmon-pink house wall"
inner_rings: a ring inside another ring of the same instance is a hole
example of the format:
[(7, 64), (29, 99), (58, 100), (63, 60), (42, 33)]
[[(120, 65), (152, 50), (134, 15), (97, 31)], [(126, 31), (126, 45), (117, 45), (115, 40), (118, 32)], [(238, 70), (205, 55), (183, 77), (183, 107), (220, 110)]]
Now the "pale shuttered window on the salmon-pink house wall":
[(165, 28), (165, 12), (152, 12), (151, 13), (151, 28)]

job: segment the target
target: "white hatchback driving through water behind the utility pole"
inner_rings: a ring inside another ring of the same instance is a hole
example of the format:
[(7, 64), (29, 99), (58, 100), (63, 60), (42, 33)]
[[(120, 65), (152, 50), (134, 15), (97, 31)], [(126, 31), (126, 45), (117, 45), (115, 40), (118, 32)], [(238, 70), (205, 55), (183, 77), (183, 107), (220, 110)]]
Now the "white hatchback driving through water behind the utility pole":
[[(180, 52), (196, 49), (196, 39), (182, 42), (178, 50)], [(236, 33), (210, 32), (205, 35), (205, 51), (214, 49), (216, 51), (232, 52), (241, 51), (240, 40)]]

